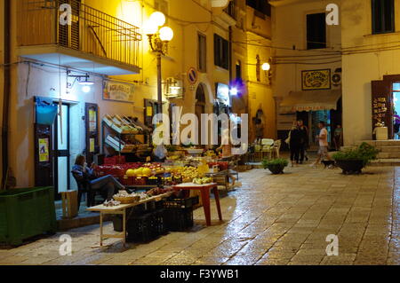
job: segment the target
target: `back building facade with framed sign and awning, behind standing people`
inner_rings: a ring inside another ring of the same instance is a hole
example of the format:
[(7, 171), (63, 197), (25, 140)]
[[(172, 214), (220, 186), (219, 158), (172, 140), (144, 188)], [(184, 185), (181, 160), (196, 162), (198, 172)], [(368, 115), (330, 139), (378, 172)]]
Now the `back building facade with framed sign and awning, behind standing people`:
[(325, 22), (331, 3), (271, 1), (279, 138), (287, 138), (292, 122), (301, 119), (308, 126), (310, 145), (315, 145), (319, 121), (327, 122), (331, 138), (333, 128), (342, 124), (341, 82), (335, 79), (342, 68), (341, 28)]

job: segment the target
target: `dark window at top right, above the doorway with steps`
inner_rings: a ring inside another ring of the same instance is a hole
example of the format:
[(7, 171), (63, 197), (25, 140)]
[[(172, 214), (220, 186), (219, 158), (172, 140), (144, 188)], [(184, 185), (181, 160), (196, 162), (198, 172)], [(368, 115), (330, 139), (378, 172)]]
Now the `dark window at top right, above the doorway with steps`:
[(372, 0), (372, 34), (395, 31), (394, 0)]

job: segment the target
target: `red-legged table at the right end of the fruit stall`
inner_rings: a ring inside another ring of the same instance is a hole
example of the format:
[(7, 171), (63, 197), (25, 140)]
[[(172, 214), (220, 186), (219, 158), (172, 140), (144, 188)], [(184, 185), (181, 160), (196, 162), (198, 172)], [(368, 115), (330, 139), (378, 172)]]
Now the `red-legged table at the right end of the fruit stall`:
[(207, 226), (211, 226), (211, 209), (210, 209), (210, 190), (214, 193), (215, 202), (217, 204), (218, 216), (220, 216), (220, 220), (222, 221), (222, 213), (220, 212), (220, 193), (218, 192), (218, 185), (216, 183), (207, 184), (207, 185), (196, 185), (193, 183), (185, 183), (180, 185), (172, 186), (174, 190), (183, 190), (183, 191), (192, 191), (197, 190), (201, 192), (202, 200), (203, 200), (203, 208), (205, 221)]

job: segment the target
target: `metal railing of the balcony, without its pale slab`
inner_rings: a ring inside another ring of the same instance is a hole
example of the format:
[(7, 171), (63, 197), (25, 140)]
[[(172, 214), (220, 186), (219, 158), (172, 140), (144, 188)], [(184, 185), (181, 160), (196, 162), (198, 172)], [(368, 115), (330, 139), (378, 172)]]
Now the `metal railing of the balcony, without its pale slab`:
[[(140, 29), (80, 0), (19, 0), (19, 46), (57, 45), (103, 59), (139, 66)], [(61, 4), (71, 7), (64, 24)]]

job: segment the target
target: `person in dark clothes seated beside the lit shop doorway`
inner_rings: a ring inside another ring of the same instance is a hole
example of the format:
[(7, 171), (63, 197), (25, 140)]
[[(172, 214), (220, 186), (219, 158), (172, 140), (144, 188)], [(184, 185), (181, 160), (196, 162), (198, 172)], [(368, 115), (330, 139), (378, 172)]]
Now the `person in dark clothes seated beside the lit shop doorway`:
[(90, 168), (87, 167), (86, 158), (84, 155), (79, 154), (76, 157), (76, 162), (72, 168), (72, 173), (76, 177), (76, 181), (82, 185), (91, 185), (93, 191), (100, 191), (107, 200), (112, 200), (113, 196), (118, 191), (125, 190), (124, 185), (121, 185), (115, 177), (108, 175), (105, 177), (97, 178), (94, 172), (96, 165), (92, 164)]

